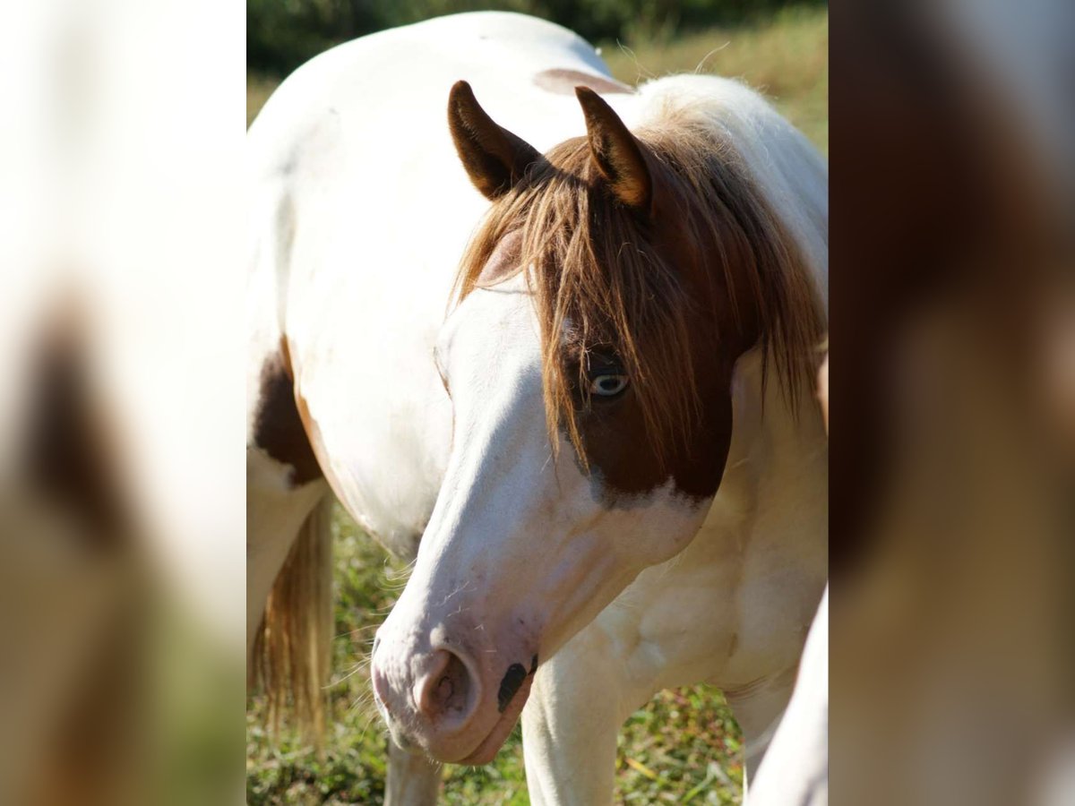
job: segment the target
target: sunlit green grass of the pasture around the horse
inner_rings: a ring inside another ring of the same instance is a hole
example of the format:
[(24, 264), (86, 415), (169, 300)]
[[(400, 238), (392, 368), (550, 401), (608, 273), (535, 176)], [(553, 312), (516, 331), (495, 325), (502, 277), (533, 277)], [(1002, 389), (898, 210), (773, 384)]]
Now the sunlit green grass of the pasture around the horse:
[[(628, 83), (701, 69), (739, 76), (764, 91), (828, 153), (828, 13), (787, 9), (751, 25), (669, 42), (605, 44), (602, 55)], [(276, 86), (247, 76), (247, 123)], [(259, 804), (378, 804), (386, 734), (372, 706), (367, 654), (373, 633), (403, 588), (406, 570), (390, 560), (338, 507), (333, 519), (336, 594), (329, 731), (320, 753), (284, 729), (268, 734), (262, 704), (247, 700), (246, 796)], [(666, 691), (627, 723), (619, 737), (616, 800), (628, 804), (736, 804), (742, 800), (741, 735), (723, 699), (704, 686)], [(496, 762), (447, 765), (442, 803), (529, 803), (519, 730)]]

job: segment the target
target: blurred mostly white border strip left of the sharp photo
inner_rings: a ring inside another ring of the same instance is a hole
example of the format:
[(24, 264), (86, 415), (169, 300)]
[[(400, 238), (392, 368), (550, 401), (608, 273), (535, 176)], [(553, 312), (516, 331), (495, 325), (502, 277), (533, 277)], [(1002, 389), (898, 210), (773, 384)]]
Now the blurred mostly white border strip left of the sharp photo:
[(0, 803), (234, 804), (242, 8), (2, 17)]

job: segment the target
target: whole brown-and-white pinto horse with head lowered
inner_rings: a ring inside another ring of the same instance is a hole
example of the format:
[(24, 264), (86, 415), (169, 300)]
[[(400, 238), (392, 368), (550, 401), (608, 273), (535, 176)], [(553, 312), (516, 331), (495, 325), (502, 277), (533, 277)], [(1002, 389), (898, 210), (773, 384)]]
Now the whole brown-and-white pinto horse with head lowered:
[(622, 721), (703, 681), (752, 775), (827, 577), (805, 138), (741, 83), (635, 89), (559, 26), (478, 12), (301, 67), (248, 172), (269, 689), (316, 721), (334, 494), (415, 558), (371, 660), (390, 800), (429, 802), (425, 758), (486, 763), (521, 714), (532, 802), (610, 803)]

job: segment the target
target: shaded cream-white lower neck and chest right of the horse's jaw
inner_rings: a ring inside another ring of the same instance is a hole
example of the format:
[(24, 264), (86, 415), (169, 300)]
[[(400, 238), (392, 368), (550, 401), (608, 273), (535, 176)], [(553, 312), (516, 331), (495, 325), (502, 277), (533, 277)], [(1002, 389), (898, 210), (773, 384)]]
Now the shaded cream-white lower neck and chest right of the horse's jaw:
[(828, 573), (825, 433), (812, 395), (797, 419), (775, 378), (762, 389), (761, 363), (757, 348), (736, 363), (728, 462), (694, 539), (599, 617), (617, 645), (639, 647), (631, 675), (645, 695), (785, 673), (817, 608)]

